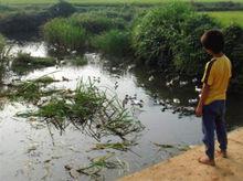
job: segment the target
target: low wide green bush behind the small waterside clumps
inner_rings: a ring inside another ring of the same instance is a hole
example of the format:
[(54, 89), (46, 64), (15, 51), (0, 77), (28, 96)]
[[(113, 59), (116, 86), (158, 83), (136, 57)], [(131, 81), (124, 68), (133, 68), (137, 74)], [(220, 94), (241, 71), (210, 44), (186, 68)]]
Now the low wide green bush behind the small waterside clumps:
[(99, 34), (112, 29), (125, 29), (123, 19), (112, 19), (98, 13), (74, 14), (72, 21), (92, 34)]

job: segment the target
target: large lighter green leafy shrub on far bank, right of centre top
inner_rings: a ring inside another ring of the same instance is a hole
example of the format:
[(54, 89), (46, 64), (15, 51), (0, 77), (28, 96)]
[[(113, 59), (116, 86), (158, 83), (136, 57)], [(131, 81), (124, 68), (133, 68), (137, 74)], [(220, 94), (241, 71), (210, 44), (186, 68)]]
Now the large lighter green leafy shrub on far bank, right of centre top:
[(150, 10), (139, 18), (133, 29), (133, 47), (138, 58), (148, 63), (166, 61), (171, 54), (170, 44), (177, 40), (180, 22), (190, 15), (186, 3), (170, 3)]

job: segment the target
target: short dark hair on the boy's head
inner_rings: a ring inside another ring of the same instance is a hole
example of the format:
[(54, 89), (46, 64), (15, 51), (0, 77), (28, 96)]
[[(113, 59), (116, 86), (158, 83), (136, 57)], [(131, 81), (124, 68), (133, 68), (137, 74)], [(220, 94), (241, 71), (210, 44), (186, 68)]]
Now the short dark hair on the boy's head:
[(202, 35), (201, 43), (204, 49), (220, 53), (224, 47), (223, 33), (219, 30), (210, 30)]

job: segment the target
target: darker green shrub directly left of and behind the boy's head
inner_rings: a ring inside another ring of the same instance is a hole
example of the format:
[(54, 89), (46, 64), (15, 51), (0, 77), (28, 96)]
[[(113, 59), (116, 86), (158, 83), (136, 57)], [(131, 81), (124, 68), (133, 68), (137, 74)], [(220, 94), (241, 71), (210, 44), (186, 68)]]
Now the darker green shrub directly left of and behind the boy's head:
[(202, 49), (200, 38), (204, 31), (216, 26), (205, 14), (191, 14), (181, 23), (182, 32), (172, 43), (173, 65), (186, 74), (202, 74), (211, 58)]

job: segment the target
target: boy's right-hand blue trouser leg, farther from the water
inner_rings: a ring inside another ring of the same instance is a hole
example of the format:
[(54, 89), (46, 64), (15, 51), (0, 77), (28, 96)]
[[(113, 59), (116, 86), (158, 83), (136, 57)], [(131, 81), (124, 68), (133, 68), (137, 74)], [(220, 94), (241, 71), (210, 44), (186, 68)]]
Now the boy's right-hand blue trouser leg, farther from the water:
[[(216, 138), (222, 152), (226, 152), (228, 138), (225, 127), (225, 103), (220, 103), (220, 115), (215, 119)], [(225, 156), (226, 157), (226, 156)]]

